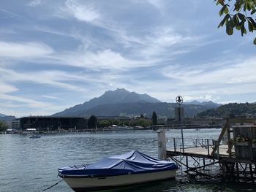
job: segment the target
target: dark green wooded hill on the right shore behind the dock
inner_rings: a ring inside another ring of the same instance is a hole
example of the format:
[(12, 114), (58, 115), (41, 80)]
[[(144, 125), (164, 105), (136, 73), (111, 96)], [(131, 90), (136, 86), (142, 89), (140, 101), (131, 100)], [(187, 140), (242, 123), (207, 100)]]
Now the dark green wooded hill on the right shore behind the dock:
[(252, 103), (230, 103), (224, 104), (216, 109), (206, 110), (205, 112), (200, 112), (198, 117), (219, 117), (219, 118), (227, 118), (227, 117), (238, 117), (245, 115), (254, 115), (256, 116), (256, 104)]

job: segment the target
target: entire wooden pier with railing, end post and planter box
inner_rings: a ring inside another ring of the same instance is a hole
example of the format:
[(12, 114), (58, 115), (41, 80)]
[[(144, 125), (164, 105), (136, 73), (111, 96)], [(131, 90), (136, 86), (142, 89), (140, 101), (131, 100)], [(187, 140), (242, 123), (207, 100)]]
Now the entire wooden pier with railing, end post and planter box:
[[(231, 127), (227, 120), (217, 140), (165, 138), (165, 134), (162, 135), (163, 139), (158, 138), (162, 139), (159, 150), (165, 149), (162, 158), (176, 162), (181, 174), (256, 183), (255, 125)], [(167, 147), (164, 146), (166, 142)]]

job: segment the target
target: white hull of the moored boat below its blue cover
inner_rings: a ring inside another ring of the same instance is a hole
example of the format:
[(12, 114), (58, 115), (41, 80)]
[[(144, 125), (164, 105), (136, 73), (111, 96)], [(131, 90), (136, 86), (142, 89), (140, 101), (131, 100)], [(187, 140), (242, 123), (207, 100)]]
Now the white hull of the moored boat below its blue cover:
[(157, 180), (175, 179), (176, 169), (162, 172), (149, 172), (140, 174), (124, 174), (106, 177), (62, 177), (74, 191), (98, 191), (108, 188), (119, 188), (128, 185), (148, 183)]

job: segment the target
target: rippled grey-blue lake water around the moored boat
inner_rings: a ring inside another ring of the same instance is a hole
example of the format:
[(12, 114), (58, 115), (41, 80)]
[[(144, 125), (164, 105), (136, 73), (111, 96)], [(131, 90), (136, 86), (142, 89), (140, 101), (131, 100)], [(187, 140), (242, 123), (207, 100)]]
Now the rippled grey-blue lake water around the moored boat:
[[(184, 130), (184, 138), (217, 139), (220, 129)], [(180, 137), (170, 130), (167, 137)], [(186, 145), (186, 143), (185, 143)], [(140, 150), (157, 158), (156, 131), (105, 131), (94, 133), (43, 135), (29, 139), (20, 134), (0, 134), (0, 191), (42, 191), (61, 180), (57, 169), (72, 164), (88, 164), (108, 156)], [(61, 182), (48, 191), (71, 192)], [(256, 186), (208, 181), (167, 181), (118, 190), (144, 191), (256, 191)]]

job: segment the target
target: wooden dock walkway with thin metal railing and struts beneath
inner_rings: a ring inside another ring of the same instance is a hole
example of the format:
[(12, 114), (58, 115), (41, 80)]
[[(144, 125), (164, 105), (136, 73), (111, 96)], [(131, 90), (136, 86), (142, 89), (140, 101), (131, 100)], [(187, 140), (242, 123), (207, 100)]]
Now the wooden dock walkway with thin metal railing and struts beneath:
[[(236, 156), (235, 147), (229, 145), (217, 145), (211, 139), (184, 139), (192, 145), (181, 147), (181, 138), (172, 138), (171, 147), (167, 147), (165, 155), (185, 172), (204, 174), (202, 169), (209, 166), (218, 166), (222, 169), (222, 176), (227, 180), (256, 182), (256, 159), (239, 158)], [(178, 145), (179, 144), (179, 145)], [(208, 175), (211, 177), (211, 175)]]

